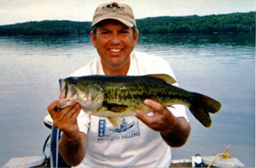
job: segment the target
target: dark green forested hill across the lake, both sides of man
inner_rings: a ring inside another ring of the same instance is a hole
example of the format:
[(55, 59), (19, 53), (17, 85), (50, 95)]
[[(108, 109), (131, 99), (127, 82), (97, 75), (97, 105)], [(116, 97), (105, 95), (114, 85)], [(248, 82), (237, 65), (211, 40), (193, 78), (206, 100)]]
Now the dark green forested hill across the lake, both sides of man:
[[(136, 20), (140, 34), (255, 33), (255, 12)], [(90, 34), (90, 22), (46, 20), (0, 26), (1, 36)]]

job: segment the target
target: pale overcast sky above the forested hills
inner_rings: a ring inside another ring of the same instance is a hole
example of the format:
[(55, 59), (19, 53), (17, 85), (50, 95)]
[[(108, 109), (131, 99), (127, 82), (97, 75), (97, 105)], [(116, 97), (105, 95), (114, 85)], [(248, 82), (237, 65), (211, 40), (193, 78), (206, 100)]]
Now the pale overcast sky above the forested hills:
[[(41, 20), (91, 21), (95, 8), (114, 0), (0, 0), (0, 25)], [(116, 0), (135, 18), (256, 11), (255, 0)]]

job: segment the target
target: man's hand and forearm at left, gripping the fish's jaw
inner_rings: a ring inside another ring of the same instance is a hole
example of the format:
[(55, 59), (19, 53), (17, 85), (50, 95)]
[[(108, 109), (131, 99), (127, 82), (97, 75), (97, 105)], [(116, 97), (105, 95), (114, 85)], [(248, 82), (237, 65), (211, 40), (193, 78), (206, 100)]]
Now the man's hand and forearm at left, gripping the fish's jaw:
[(67, 108), (57, 109), (57, 101), (52, 102), (47, 110), (50, 113), (53, 125), (63, 131), (59, 140), (60, 154), (68, 165), (76, 166), (84, 159), (87, 135), (79, 132), (77, 118), (81, 107), (79, 103)]

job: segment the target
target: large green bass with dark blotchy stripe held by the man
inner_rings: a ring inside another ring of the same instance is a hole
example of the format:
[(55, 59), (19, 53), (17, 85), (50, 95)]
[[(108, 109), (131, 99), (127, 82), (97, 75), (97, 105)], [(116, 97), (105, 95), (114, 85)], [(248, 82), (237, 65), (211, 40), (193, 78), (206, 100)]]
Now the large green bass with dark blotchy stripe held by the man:
[(210, 113), (221, 109), (221, 102), (197, 92), (188, 92), (173, 86), (177, 81), (166, 74), (144, 76), (69, 76), (59, 80), (58, 108), (79, 102), (85, 113), (108, 118), (120, 128), (120, 118), (136, 116), (136, 110), (144, 113), (153, 110), (144, 105), (145, 99), (160, 102), (164, 107), (181, 104), (204, 127), (211, 125)]

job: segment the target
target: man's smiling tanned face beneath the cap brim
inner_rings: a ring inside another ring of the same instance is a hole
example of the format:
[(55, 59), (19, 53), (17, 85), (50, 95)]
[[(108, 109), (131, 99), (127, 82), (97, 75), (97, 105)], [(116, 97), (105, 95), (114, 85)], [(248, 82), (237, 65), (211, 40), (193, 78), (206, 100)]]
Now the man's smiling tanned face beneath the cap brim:
[(116, 20), (107, 20), (90, 34), (92, 43), (101, 56), (103, 68), (119, 70), (129, 66), (129, 55), (135, 47), (139, 34)]

